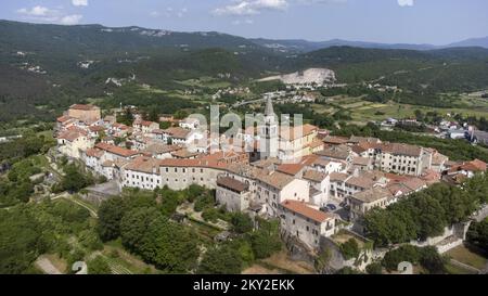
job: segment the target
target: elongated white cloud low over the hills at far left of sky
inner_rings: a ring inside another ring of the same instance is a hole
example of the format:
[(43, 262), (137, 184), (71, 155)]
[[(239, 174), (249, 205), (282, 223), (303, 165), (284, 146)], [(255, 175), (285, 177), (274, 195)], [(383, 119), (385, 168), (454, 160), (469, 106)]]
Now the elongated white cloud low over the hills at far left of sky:
[(66, 15), (60, 10), (52, 10), (40, 5), (34, 7), (31, 9), (23, 8), (17, 10), (16, 12), (29, 21), (56, 23), (62, 25), (76, 25), (82, 18), (81, 14)]

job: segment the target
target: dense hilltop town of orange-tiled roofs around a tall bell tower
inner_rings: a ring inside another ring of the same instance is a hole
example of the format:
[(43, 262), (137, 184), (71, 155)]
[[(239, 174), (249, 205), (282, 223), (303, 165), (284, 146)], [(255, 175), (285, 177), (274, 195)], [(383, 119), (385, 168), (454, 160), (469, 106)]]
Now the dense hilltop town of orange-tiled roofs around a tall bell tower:
[[(279, 128), (270, 98), (264, 113), (264, 126), (241, 129), (236, 138), (243, 143), (235, 146), (237, 141), (224, 136), (217, 142), (207, 139), (194, 118), (162, 115), (169, 128), (160, 129), (160, 123), (143, 120), (136, 112), (132, 126), (126, 126), (115, 114), (102, 118), (95, 105), (75, 104), (57, 118), (56, 151), (119, 192), (181, 191), (194, 184), (214, 190), (216, 207), (279, 219), (285, 241), (316, 255), (324, 240), (339, 232), (365, 235), (363, 217), (374, 208), (439, 182), (462, 184), (487, 170), (479, 159), (451, 162), (431, 147), (336, 137), (308, 124)], [(269, 152), (273, 137), (279, 143), (274, 154)], [(268, 151), (260, 151), (262, 142)], [(242, 151), (246, 145), (254, 149)], [(433, 243), (442, 252), (463, 241), (449, 234), (442, 239), (452, 241), (448, 247), (442, 240)]]

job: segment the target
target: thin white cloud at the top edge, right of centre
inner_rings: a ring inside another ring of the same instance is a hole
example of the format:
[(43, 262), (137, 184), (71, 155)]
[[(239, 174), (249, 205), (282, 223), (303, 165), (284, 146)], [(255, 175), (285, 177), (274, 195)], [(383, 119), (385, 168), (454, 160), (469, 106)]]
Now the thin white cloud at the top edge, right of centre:
[(287, 0), (239, 0), (213, 11), (216, 15), (254, 15), (266, 10), (283, 11), (288, 7)]

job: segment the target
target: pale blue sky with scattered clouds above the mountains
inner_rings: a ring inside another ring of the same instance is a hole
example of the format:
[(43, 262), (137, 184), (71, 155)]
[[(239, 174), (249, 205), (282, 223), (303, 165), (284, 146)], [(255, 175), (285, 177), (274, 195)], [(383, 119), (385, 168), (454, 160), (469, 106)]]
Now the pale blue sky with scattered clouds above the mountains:
[(446, 44), (488, 36), (486, 0), (2, 0), (0, 18), (243, 37)]

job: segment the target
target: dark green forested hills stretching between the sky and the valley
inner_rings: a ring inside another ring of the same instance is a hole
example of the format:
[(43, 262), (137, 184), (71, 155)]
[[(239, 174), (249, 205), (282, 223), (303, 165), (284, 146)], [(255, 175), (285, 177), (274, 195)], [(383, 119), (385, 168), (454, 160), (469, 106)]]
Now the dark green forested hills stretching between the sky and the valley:
[(0, 21), (0, 123), (52, 120), (73, 102), (106, 98), (129, 82), (184, 90), (188, 79), (242, 85), (308, 67), (331, 68), (338, 82), (398, 86), (398, 99), (412, 104), (445, 106), (452, 102), (440, 93), (488, 88), (488, 50), (481, 48), (331, 47), (287, 55), (219, 33)]

